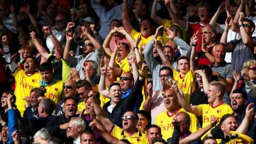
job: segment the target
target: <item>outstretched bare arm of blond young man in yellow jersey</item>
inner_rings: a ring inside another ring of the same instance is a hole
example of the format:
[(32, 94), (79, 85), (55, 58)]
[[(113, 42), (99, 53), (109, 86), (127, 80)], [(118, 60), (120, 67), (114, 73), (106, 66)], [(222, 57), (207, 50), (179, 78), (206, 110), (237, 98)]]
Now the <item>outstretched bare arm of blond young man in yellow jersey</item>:
[(177, 87), (178, 81), (176, 81), (173, 85), (172, 85), (172, 89), (175, 91), (177, 98), (179, 100), (180, 105), (182, 106), (183, 109), (185, 109), (186, 111), (188, 111), (189, 113), (193, 113), (196, 116), (198, 116), (198, 109), (197, 106), (189, 106), (188, 103), (186, 102), (184, 96), (179, 92), (179, 89)]

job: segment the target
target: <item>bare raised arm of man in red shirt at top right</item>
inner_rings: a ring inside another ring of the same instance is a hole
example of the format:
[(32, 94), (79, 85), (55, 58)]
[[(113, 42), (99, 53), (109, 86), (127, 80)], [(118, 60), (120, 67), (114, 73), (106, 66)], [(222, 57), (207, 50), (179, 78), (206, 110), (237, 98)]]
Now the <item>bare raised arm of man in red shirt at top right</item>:
[(178, 25), (181, 26), (181, 28), (183, 29), (186, 29), (186, 26), (187, 26), (187, 22), (186, 21), (183, 21), (181, 20), (181, 17), (179, 17), (179, 15), (175, 14), (170, 6), (170, 1), (172, 0), (165, 0), (165, 5), (169, 11), (169, 14), (171, 15), (171, 18), (172, 18), (172, 21), (174, 23), (177, 23)]

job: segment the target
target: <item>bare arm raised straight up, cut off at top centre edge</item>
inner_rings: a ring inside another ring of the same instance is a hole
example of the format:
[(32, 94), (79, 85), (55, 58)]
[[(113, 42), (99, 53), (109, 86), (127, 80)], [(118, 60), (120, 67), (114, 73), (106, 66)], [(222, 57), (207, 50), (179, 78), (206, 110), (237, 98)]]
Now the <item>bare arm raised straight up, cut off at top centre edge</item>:
[(129, 16), (127, 1), (128, 0), (123, 0), (122, 20), (123, 20), (125, 30), (127, 31), (127, 33), (131, 34), (133, 27), (130, 22), (131, 19)]

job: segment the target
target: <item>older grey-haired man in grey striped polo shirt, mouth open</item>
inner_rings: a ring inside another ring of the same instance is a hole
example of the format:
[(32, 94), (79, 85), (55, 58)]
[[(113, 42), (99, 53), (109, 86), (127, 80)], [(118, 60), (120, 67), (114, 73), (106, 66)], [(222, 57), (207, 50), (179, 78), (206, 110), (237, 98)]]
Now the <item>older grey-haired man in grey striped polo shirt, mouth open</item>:
[[(212, 75), (215, 76), (215, 79), (225, 83), (226, 85), (226, 92), (222, 97), (222, 101), (225, 103), (230, 103), (228, 93), (231, 92), (234, 78), (233, 78), (233, 66), (231, 63), (227, 63), (225, 61), (226, 55), (226, 45), (223, 43), (215, 43), (213, 47), (213, 57), (214, 62), (210, 65), (212, 68)], [(237, 59), (237, 58), (236, 58)]]

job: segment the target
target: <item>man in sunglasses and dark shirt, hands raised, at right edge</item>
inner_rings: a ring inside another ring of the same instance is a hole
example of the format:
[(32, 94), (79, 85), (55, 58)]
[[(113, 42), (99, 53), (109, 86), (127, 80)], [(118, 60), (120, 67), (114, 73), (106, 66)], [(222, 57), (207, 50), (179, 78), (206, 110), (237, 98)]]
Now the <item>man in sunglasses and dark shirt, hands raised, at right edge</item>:
[(255, 29), (255, 24), (252, 20), (245, 19), (244, 13), (239, 13), (239, 28), (236, 26), (235, 29), (232, 28), (233, 31), (241, 34), (241, 38), (238, 40), (233, 40), (227, 43), (227, 35), (228, 29), (230, 25), (225, 23), (225, 30), (221, 36), (220, 42), (226, 44), (226, 51), (233, 52), (231, 57), (231, 64), (234, 66), (238, 73), (241, 73), (243, 68), (243, 63), (246, 60), (255, 60), (255, 38), (252, 37), (253, 31)]

